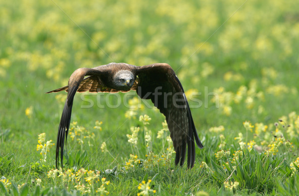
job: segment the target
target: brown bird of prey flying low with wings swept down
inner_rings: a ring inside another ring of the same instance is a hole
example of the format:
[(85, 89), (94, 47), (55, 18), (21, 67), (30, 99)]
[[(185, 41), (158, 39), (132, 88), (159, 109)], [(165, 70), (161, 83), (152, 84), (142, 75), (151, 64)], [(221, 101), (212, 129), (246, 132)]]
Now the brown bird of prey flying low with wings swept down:
[(47, 92), (68, 92), (57, 134), (56, 168), (59, 165), (59, 148), (63, 167), (63, 147), (67, 140), (75, 93), (125, 93), (130, 90), (136, 91), (143, 99), (150, 99), (164, 114), (176, 152), (175, 165), (184, 164), (188, 149), (187, 168), (194, 166), (194, 140), (199, 148), (203, 148), (203, 145), (198, 138), (183, 87), (173, 69), (166, 63), (145, 66), (110, 63), (95, 68), (79, 68), (71, 75), (68, 86)]

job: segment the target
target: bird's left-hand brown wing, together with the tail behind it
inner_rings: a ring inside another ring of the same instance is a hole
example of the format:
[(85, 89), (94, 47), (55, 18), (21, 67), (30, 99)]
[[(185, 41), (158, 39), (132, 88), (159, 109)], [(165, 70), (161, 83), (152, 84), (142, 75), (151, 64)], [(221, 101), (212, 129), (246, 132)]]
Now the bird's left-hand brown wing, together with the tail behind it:
[[(77, 69), (70, 77), (68, 86), (47, 92), (59, 92), (67, 91), (67, 98), (63, 107), (58, 134), (57, 134), (57, 143), (56, 143), (56, 168), (58, 168), (59, 162), (59, 148), (60, 148), (60, 159), (61, 167), (63, 167), (63, 147), (64, 141), (66, 143), (67, 135), (70, 126), (71, 113), (73, 100), (76, 92), (109, 92), (116, 93), (114, 89), (105, 87), (102, 79), (105, 78), (109, 73), (108, 69), (89, 69), (89, 68), (80, 68)], [(89, 76), (84, 78), (85, 76)], [(118, 92), (118, 91), (117, 91)]]

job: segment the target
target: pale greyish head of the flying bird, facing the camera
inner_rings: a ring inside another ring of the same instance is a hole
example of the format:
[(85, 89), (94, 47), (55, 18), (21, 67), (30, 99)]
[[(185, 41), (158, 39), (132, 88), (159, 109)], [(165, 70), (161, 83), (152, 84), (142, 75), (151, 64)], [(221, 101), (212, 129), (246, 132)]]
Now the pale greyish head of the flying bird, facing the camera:
[(129, 70), (120, 70), (113, 76), (113, 84), (117, 90), (130, 90), (134, 81), (135, 76)]

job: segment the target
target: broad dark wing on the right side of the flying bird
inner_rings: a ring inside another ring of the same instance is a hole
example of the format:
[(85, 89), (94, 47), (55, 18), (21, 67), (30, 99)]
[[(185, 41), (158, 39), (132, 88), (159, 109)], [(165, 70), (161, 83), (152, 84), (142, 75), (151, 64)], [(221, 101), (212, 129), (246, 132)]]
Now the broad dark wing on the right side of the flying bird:
[(151, 99), (154, 105), (166, 117), (170, 137), (176, 152), (175, 165), (184, 164), (188, 147), (187, 167), (192, 168), (195, 162), (195, 142), (203, 148), (183, 87), (174, 71), (168, 64), (152, 64), (137, 67), (139, 77), (137, 94), (141, 98)]

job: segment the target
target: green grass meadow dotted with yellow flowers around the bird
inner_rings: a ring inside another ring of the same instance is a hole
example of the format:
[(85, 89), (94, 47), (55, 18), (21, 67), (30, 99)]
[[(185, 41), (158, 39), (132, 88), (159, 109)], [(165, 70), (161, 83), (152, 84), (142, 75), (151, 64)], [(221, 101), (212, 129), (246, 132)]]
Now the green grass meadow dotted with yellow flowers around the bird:
[[(0, 0), (0, 37), (1, 195), (298, 195), (298, 2)], [(204, 145), (193, 169), (133, 93), (77, 94), (55, 170), (66, 93), (45, 92), (110, 62), (172, 66)]]

